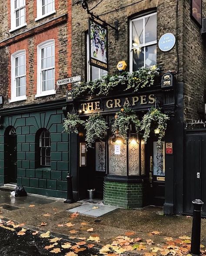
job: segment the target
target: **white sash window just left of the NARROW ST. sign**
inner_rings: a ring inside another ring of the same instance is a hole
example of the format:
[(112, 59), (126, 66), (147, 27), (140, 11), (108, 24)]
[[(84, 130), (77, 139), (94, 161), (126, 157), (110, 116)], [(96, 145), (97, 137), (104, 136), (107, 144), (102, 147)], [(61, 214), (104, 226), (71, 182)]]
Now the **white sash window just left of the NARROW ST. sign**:
[(37, 95), (55, 94), (55, 46), (54, 40), (48, 40), (37, 46)]

